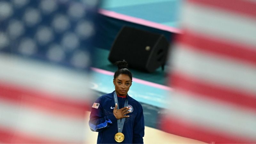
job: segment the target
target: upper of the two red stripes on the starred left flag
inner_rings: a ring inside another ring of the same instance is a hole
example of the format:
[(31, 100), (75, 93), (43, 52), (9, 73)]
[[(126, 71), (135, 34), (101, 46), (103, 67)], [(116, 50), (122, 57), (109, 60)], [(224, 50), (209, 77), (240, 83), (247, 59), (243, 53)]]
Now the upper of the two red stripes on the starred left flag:
[(90, 108), (86, 101), (61, 99), (61, 96), (5, 82), (0, 82), (0, 98), (46, 112), (82, 119), (85, 116), (84, 111)]

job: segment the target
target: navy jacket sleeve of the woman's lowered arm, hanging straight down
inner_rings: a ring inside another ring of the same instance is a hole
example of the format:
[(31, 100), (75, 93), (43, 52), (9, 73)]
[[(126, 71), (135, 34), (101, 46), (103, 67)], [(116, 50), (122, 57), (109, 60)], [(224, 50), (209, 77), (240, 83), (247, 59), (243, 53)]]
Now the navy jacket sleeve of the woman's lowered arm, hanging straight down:
[(143, 109), (142, 109), (142, 106), (140, 107), (141, 109), (134, 120), (132, 143), (143, 143), (145, 124), (144, 124)]

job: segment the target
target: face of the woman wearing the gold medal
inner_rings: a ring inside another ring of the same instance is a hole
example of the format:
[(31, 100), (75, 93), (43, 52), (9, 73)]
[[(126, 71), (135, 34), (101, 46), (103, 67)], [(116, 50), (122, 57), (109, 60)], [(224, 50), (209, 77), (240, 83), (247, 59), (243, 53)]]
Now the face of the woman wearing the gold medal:
[(120, 74), (113, 80), (113, 83), (115, 84), (116, 94), (126, 96), (132, 85), (132, 80), (128, 75)]

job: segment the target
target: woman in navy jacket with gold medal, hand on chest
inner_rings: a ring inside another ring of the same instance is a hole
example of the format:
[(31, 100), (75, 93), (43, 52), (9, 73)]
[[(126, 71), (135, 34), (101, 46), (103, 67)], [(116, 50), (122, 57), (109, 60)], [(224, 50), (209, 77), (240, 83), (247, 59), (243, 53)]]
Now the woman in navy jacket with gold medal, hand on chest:
[(97, 143), (143, 143), (143, 109), (127, 94), (132, 85), (132, 73), (127, 69), (126, 61), (116, 64), (115, 91), (95, 101), (89, 126), (93, 132), (99, 132)]

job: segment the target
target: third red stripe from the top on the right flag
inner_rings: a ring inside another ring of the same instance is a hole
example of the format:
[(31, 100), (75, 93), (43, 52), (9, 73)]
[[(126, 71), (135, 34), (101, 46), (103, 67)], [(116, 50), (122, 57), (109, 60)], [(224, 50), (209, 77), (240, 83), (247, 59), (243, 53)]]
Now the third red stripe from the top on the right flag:
[(173, 88), (180, 91), (224, 101), (256, 111), (256, 93), (231, 89), (221, 84), (215, 84), (203, 79), (188, 76), (180, 71), (172, 72), (171, 85)]

